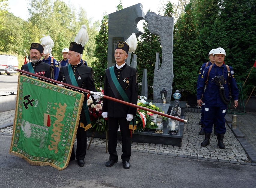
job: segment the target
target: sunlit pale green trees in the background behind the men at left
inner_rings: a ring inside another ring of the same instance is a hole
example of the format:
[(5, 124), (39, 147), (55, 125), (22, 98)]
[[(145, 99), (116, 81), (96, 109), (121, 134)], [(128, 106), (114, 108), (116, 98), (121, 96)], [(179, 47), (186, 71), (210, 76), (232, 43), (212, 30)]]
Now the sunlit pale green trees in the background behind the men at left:
[[(0, 0), (0, 15), (3, 8)], [(95, 60), (95, 36), (98, 34), (99, 22), (92, 23), (84, 9), (77, 11), (72, 5), (62, 0), (31, 0), (28, 6), (29, 20), (25, 21), (8, 13), (0, 19), (0, 49), (24, 55), (32, 42), (40, 42), (42, 35), (50, 35), (54, 47), (52, 55), (62, 59), (62, 49), (68, 48), (74, 41), (81, 25), (87, 26), (89, 41), (85, 45), (83, 59), (90, 65)]]

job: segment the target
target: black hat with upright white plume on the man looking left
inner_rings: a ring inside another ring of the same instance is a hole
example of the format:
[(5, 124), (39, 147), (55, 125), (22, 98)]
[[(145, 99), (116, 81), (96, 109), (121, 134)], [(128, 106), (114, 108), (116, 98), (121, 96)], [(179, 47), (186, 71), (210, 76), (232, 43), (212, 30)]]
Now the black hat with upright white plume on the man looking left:
[(88, 42), (89, 37), (87, 33), (86, 25), (82, 25), (78, 34), (76, 35), (74, 42), (71, 42), (69, 45), (69, 50), (77, 53), (83, 54), (84, 45)]

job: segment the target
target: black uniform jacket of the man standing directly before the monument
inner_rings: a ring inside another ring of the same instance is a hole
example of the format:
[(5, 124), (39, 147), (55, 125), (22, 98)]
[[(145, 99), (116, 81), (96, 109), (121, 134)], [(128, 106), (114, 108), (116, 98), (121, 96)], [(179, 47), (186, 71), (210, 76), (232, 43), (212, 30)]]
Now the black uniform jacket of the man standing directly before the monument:
[[(130, 103), (137, 105), (139, 88), (137, 69), (127, 64), (118, 69), (116, 65), (114, 65), (114, 73), (118, 82), (120, 83), (120, 86), (123, 88), (124, 92), (130, 99)], [(109, 85), (110, 81), (111, 80), (108, 80), (108, 77), (105, 75), (104, 95), (116, 98)], [(117, 99), (123, 100), (119, 97), (117, 97)], [(108, 112), (109, 117), (126, 117), (127, 114), (136, 115), (136, 108), (132, 108), (128, 105), (124, 105), (108, 99), (103, 99), (103, 112)]]

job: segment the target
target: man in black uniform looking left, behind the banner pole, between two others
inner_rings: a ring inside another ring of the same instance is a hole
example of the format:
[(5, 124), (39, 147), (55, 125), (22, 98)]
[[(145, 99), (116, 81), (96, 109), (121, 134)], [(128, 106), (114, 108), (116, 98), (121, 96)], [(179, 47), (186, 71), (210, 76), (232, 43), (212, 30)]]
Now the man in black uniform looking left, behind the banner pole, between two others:
[[(73, 86), (81, 87), (93, 92), (97, 92), (94, 81), (92, 68), (82, 65), (80, 62), (81, 54), (83, 53), (84, 47), (76, 42), (71, 42), (69, 46), (68, 61), (69, 65), (62, 66), (59, 71), (58, 81), (68, 83)], [(100, 97), (93, 95), (95, 100)], [(87, 95), (84, 99), (83, 108), (81, 111), (80, 122), (76, 134), (77, 138), (77, 149), (76, 154), (74, 146), (72, 149), (70, 160), (78, 161), (79, 166), (84, 166), (84, 158), (86, 155), (87, 137), (86, 130), (91, 127), (89, 109), (87, 107)]]

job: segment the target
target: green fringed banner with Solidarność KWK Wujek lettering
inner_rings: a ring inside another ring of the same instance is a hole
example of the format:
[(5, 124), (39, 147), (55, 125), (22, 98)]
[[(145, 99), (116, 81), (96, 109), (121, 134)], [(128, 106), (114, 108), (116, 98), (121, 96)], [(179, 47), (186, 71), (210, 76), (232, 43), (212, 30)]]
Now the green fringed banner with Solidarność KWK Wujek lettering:
[(67, 167), (84, 94), (19, 75), (10, 153), (32, 165)]

